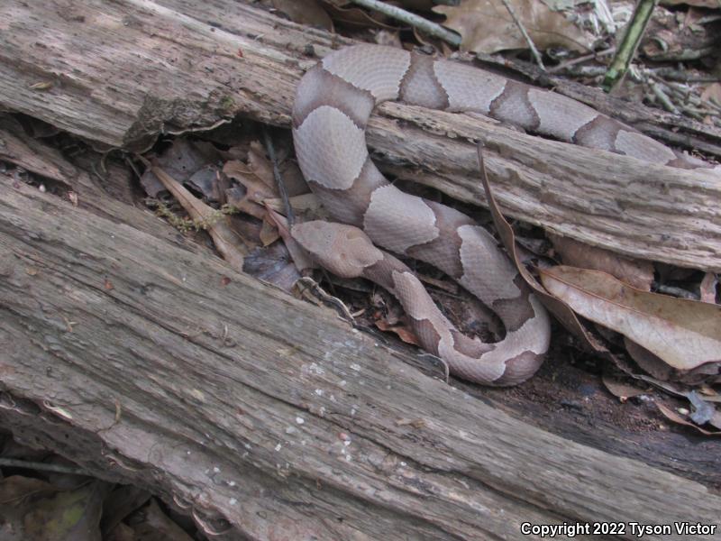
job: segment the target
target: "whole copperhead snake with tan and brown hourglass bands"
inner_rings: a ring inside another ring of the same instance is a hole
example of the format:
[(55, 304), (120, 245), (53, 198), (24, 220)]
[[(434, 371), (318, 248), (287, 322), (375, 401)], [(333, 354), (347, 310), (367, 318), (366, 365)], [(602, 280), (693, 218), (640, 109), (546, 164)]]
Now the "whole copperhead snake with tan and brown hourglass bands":
[[(294, 225), (293, 238), (329, 271), (388, 289), (424, 349), (454, 375), (485, 385), (515, 385), (538, 370), (550, 343), (549, 316), (491, 234), (449, 206), (396, 188), (370, 160), (365, 126), (373, 108), (387, 100), (480, 113), (654, 163), (706, 166), (568, 97), (458, 62), (356, 45), (333, 51), (310, 69), (293, 108), (297, 160), (315, 195), (342, 224)], [(457, 280), (497, 313), (505, 338), (488, 344), (461, 334), (406, 264), (376, 245), (427, 261)]]

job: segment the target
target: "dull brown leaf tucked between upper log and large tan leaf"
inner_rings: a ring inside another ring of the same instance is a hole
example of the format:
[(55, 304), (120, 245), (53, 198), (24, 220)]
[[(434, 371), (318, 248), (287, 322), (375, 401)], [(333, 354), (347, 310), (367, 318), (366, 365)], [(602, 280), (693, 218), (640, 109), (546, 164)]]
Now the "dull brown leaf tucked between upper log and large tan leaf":
[(570, 237), (548, 234), (563, 264), (571, 267), (604, 271), (636, 289), (648, 291), (653, 282), (653, 263), (632, 260), (603, 248), (580, 243)]

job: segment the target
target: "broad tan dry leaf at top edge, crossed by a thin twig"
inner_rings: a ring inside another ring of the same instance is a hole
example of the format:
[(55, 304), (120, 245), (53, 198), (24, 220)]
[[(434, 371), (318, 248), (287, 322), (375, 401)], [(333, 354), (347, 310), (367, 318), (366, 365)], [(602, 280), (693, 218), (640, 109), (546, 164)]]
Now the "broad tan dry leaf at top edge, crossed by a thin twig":
[[(560, 45), (580, 52), (591, 50), (593, 36), (580, 30), (563, 14), (552, 11), (541, 0), (508, 1), (538, 49)], [(434, 12), (444, 14), (444, 26), (461, 34), (461, 50), (492, 53), (528, 48), (523, 34), (501, 2), (465, 0), (458, 6), (436, 6)]]

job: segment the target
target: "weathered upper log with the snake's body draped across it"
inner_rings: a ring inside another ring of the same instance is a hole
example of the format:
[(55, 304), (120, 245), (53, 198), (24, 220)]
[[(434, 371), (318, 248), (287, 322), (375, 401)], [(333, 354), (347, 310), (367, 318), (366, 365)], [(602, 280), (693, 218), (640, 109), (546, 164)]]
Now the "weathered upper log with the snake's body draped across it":
[[(303, 69), (349, 42), (228, 0), (65, 4), (0, 6), (0, 105), (132, 149), (233, 115), (287, 126)], [(476, 141), (508, 215), (625, 255), (721, 270), (717, 172), (406, 105), (381, 105), (369, 124), (382, 169), (472, 202), (482, 200)]]

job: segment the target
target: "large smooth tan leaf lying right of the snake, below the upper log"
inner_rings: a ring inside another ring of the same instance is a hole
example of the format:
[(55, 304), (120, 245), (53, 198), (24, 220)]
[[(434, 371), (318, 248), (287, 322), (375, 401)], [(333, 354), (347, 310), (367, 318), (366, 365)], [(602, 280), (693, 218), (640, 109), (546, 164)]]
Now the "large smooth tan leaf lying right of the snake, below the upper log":
[(634, 289), (601, 271), (541, 270), (543, 286), (581, 316), (642, 345), (680, 371), (721, 362), (721, 307)]

